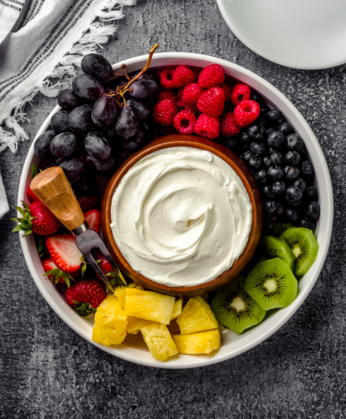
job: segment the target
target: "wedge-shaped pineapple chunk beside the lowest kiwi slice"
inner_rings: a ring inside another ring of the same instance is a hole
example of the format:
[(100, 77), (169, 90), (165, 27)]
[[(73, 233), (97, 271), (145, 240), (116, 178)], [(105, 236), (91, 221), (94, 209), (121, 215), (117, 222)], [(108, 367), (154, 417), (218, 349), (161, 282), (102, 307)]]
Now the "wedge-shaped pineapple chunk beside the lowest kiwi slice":
[(192, 297), (187, 301), (177, 318), (177, 323), (182, 335), (203, 332), (220, 326), (209, 304), (201, 297)]

